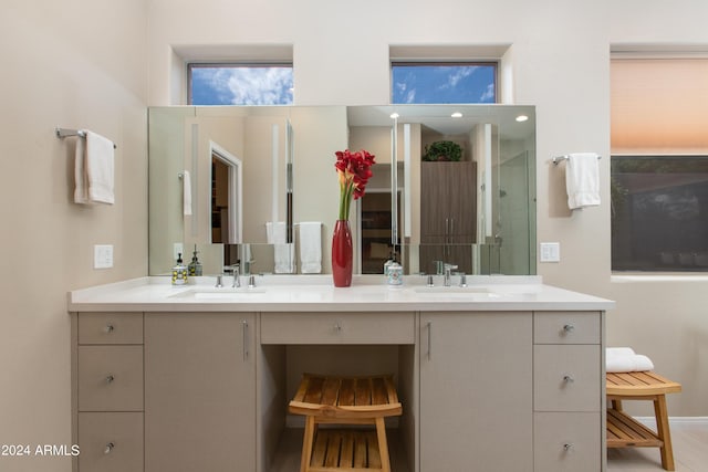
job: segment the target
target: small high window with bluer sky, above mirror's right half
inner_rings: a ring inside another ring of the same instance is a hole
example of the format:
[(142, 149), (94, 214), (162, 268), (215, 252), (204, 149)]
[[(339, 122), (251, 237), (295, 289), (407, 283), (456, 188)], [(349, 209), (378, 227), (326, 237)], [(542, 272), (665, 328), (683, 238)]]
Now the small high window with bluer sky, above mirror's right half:
[(496, 62), (394, 62), (392, 103), (496, 103)]

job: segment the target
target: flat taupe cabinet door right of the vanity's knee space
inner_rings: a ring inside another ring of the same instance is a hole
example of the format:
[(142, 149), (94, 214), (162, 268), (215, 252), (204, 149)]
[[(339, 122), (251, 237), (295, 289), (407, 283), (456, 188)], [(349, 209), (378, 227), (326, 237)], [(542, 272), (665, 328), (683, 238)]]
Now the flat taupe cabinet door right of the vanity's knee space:
[(532, 316), (420, 317), (420, 472), (533, 470)]

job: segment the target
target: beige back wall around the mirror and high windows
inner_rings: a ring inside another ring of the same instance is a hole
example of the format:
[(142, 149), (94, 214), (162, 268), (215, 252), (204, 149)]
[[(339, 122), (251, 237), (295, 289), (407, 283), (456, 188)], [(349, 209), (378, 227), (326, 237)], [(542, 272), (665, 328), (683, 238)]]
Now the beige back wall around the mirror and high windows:
[[(538, 241), (561, 243), (561, 262), (539, 263), (539, 273), (548, 283), (616, 300), (607, 317), (608, 343), (648, 354), (658, 370), (684, 384), (685, 391), (669, 400), (671, 415), (708, 416), (699, 400), (708, 396), (701, 295), (708, 276), (690, 283), (613, 282), (608, 206), (611, 46), (708, 50), (705, 18), (704, 0), (442, 0), (434, 15), (429, 3), (404, 0), (239, 2), (231, 11), (216, 0), (155, 0), (149, 96), (159, 105), (179, 96), (169, 83), (170, 44), (292, 44), (298, 105), (387, 103), (392, 44), (511, 44), (501, 88), (514, 103), (537, 106)], [(603, 156), (603, 204), (570, 213), (562, 170), (550, 159), (582, 150)]]

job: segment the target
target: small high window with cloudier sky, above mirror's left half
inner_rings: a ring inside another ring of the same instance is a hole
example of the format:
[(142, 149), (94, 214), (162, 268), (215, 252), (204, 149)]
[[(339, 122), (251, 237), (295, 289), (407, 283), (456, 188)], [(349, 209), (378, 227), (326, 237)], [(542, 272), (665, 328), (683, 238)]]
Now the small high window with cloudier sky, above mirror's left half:
[(291, 105), (292, 65), (188, 65), (190, 105)]

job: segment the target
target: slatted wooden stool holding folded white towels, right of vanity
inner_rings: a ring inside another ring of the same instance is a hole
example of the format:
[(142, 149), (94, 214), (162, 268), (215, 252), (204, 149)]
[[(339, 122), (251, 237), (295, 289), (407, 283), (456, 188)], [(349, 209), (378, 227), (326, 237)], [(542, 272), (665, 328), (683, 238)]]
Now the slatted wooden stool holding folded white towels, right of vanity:
[[(679, 391), (680, 384), (652, 371), (607, 373), (606, 394), (612, 403), (607, 408), (607, 448), (659, 448), (662, 466), (667, 471), (675, 470), (666, 394)], [(623, 400), (653, 401), (656, 432), (625, 413)]]

